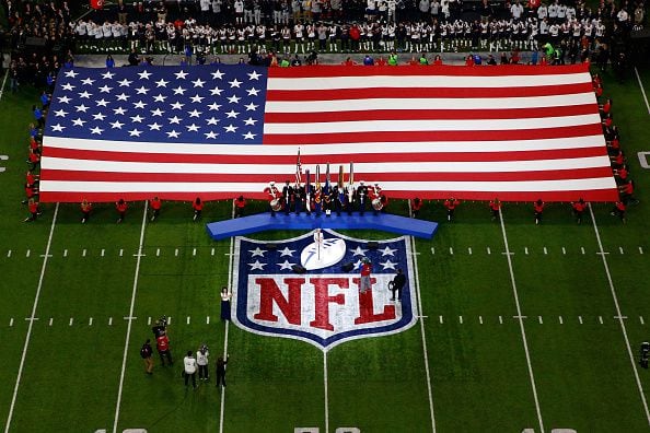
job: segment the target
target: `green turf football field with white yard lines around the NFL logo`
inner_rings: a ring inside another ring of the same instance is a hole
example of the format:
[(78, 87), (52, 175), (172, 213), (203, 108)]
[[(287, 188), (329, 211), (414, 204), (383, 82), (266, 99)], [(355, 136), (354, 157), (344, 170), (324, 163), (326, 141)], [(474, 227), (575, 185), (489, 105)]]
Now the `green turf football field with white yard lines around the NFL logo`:
[[(638, 155), (650, 151), (650, 116), (640, 83), (650, 92), (650, 71), (624, 84), (605, 74), (640, 198), (627, 224), (610, 215), (611, 204), (594, 204), (578, 225), (566, 203), (549, 203), (539, 226), (531, 203), (507, 203), (502, 220), (491, 221), (485, 202), (463, 203), (448, 223), (441, 203), (427, 202), (421, 216), (440, 226), (432, 241), (415, 243), (421, 318), (326, 354), (219, 319), (232, 245), (211, 241), (205, 222), (230, 218), (230, 202), (208, 203), (202, 222), (191, 221), (189, 203), (167, 202), (154, 223), (144, 203), (131, 203), (119, 225), (112, 204), (95, 206), (83, 225), (78, 204), (43, 206), (36, 222), (23, 223), (37, 92), (4, 93), (5, 432), (650, 430), (650, 372), (638, 363), (640, 343), (650, 340), (650, 178)], [(391, 207), (407, 212), (404, 202)], [(149, 376), (139, 349), (162, 315), (171, 317), (176, 362), (162, 367), (154, 356)], [(212, 363), (230, 354), (225, 390), (213, 382), (185, 388), (183, 354), (200, 343)]]

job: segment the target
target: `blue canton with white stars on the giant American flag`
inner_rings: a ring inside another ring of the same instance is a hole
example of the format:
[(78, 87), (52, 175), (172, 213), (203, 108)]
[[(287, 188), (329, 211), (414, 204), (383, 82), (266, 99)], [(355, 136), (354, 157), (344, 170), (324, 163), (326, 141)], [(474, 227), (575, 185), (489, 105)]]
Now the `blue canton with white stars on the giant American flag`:
[(46, 134), (260, 144), (266, 81), (245, 65), (61, 69)]

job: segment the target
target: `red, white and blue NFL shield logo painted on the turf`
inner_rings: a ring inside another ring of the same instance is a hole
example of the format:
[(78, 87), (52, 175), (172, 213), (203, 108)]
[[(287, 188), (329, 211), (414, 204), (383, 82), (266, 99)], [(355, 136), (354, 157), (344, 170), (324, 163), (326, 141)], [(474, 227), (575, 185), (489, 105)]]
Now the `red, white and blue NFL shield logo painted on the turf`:
[[(233, 321), (323, 351), (347, 340), (402, 332), (417, 320), (409, 253), (405, 236), (378, 241), (372, 248), (368, 241), (334, 231), (280, 242), (236, 237)], [(372, 290), (361, 292), (364, 259), (372, 262)], [(397, 269), (407, 279), (401, 302), (391, 301), (388, 289)]]

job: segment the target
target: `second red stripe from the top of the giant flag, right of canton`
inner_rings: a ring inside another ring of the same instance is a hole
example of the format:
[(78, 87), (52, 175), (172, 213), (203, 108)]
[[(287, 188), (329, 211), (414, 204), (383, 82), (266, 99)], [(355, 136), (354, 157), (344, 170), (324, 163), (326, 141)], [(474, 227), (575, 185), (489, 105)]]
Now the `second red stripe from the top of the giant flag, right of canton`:
[(336, 90), (268, 90), (267, 101), (333, 101), (367, 98), (498, 98), (573, 95), (593, 92), (591, 83), (535, 85), (530, 87), (368, 87)]

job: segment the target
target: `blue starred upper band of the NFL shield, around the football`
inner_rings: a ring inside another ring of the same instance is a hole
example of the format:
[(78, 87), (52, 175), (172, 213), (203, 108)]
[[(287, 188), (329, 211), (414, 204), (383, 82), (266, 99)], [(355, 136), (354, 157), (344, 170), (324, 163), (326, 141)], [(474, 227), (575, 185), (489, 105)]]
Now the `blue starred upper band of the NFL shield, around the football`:
[[(325, 233), (325, 241), (334, 237)], [(272, 244), (276, 248), (267, 248), (268, 243), (256, 243), (242, 239), (240, 244), (240, 269), (251, 274), (293, 273), (292, 266), (300, 265), (300, 254), (303, 248), (313, 243), (311, 236), (286, 243)], [(372, 273), (397, 273), (397, 269), (406, 270), (407, 251), (403, 238), (395, 241), (380, 241), (379, 248), (368, 248), (367, 241), (345, 238), (346, 255), (338, 264), (325, 269), (316, 269), (307, 273), (345, 273), (341, 267), (352, 264), (350, 273), (359, 273), (361, 259), (367, 257), (372, 262)]]

